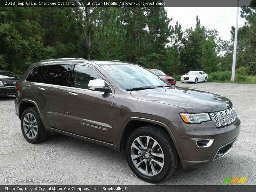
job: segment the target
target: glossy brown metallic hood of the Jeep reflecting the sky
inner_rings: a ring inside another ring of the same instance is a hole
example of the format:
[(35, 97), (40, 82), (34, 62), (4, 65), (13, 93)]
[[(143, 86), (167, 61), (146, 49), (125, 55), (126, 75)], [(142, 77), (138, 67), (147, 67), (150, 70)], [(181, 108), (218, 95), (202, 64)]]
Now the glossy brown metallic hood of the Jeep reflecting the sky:
[(132, 91), (131, 95), (137, 99), (181, 107), (188, 113), (216, 112), (232, 106), (230, 100), (220, 95), (181, 87)]

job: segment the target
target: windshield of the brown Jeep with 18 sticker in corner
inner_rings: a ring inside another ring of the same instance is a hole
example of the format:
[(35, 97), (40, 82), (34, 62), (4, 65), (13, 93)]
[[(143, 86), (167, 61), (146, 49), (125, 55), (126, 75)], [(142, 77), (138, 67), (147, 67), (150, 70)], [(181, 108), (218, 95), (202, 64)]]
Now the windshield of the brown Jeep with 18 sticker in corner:
[(129, 89), (150, 89), (159, 86), (170, 86), (159, 77), (150, 73), (147, 69), (138, 65), (115, 64), (100, 65), (106, 73), (124, 90)]

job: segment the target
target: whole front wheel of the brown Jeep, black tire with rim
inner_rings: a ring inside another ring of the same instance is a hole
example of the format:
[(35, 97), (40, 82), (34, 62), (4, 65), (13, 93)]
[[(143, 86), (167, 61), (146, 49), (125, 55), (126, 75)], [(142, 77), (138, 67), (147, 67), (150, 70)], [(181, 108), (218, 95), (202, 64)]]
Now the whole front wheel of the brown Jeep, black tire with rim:
[[(139, 144), (138, 141), (142, 143)], [(126, 142), (125, 154), (134, 174), (150, 183), (157, 183), (172, 176), (177, 170), (179, 161), (172, 140), (161, 127), (157, 126), (144, 126), (133, 131)], [(154, 169), (151, 168), (152, 166)]]

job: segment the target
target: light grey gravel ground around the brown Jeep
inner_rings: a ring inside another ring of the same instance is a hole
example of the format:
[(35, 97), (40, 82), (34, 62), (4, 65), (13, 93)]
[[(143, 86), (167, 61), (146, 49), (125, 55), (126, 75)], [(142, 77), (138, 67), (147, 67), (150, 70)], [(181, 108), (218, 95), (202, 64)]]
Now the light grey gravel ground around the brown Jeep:
[[(241, 133), (225, 157), (190, 173), (184, 173), (179, 166), (170, 179), (157, 185), (222, 185), (228, 176), (248, 177), (245, 184), (256, 185), (256, 85), (177, 85), (228, 97), (241, 119)], [(62, 183), (27, 183), (43, 185), (149, 185), (133, 174), (125, 155), (107, 147), (59, 134), (51, 135), (44, 143), (28, 143), (21, 133), (13, 96), (0, 97), (0, 172), (0, 185), (26, 184), (6, 183), (7, 177), (62, 179)]]

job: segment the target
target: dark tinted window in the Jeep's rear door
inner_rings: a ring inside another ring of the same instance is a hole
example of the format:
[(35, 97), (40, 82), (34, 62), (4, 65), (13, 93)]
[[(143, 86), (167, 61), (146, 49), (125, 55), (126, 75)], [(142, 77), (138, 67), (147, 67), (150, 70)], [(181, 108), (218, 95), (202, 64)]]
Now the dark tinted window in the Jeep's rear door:
[(45, 83), (68, 86), (69, 67), (70, 65), (50, 65), (45, 76)]

